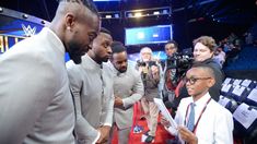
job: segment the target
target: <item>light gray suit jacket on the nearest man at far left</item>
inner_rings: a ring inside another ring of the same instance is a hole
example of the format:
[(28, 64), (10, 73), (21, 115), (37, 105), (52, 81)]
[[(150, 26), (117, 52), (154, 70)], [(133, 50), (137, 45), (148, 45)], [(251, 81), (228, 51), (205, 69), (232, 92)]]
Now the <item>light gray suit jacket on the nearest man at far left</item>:
[(0, 56), (0, 143), (74, 143), (65, 46), (49, 28)]

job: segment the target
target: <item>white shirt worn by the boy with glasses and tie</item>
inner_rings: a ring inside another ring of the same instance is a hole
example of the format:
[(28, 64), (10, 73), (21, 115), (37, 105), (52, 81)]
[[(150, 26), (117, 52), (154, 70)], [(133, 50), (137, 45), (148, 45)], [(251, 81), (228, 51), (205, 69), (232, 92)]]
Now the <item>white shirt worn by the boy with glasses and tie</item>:
[[(208, 93), (195, 103), (195, 124), (210, 97), (211, 96)], [(175, 116), (175, 121), (178, 125), (187, 125), (190, 109), (188, 109), (187, 116), (186, 111), (190, 103), (192, 103), (192, 97), (182, 99)], [(233, 129), (234, 124), (232, 113), (220, 104), (211, 99), (207, 105), (207, 108), (202, 113), (196, 129), (198, 144), (233, 144)], [(172, 127), (170, 127), (170, 132), (176, 134), (174, 133)]]

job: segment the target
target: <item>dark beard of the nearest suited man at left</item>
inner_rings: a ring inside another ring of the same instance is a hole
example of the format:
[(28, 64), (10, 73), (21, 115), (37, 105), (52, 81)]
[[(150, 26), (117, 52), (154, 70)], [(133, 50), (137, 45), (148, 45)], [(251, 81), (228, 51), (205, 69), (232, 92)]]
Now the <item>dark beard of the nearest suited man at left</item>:
[[(86, 48), (81, 48), (80, 45), (72, 43), (72, 41), (68, 44), (68, 47), (69, 49), (67, 51), (70, 56), (70, 59), (73, 60), (75, 64), (81, 63), (82, 61), (81, 57), (85, 55), (85, 52), (87, 52), (90, 49), (89, 46), (86, 46)], [(85, 50), (83, 51), (82, 49), (85, 49)]]

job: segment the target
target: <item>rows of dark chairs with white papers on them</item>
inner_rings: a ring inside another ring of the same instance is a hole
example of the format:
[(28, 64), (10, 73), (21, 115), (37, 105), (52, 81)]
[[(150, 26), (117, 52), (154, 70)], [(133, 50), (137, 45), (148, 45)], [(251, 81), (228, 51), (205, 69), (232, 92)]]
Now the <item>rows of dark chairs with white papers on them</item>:
[(219, 104), (233, 113), (234, 137), (246, 144), (257, 141), (257, 82), (226, 77)]

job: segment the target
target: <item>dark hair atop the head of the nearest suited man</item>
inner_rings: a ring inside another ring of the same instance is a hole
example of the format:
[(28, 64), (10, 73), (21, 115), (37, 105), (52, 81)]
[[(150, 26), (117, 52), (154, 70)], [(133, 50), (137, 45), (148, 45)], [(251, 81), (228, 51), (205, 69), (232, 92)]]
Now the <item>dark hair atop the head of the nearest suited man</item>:
[(59, 0), (59, 3), (60, 2), (75, 2), (75, 3), (79, 3), (79, 4), (83, 4), (85, 5), (87, 9), (90, 9), (90, 11), (92, 11), (93, 13), (97, 14), (98, 15), (98, 10), (97, 8), (95, 7), (93, 0)]

